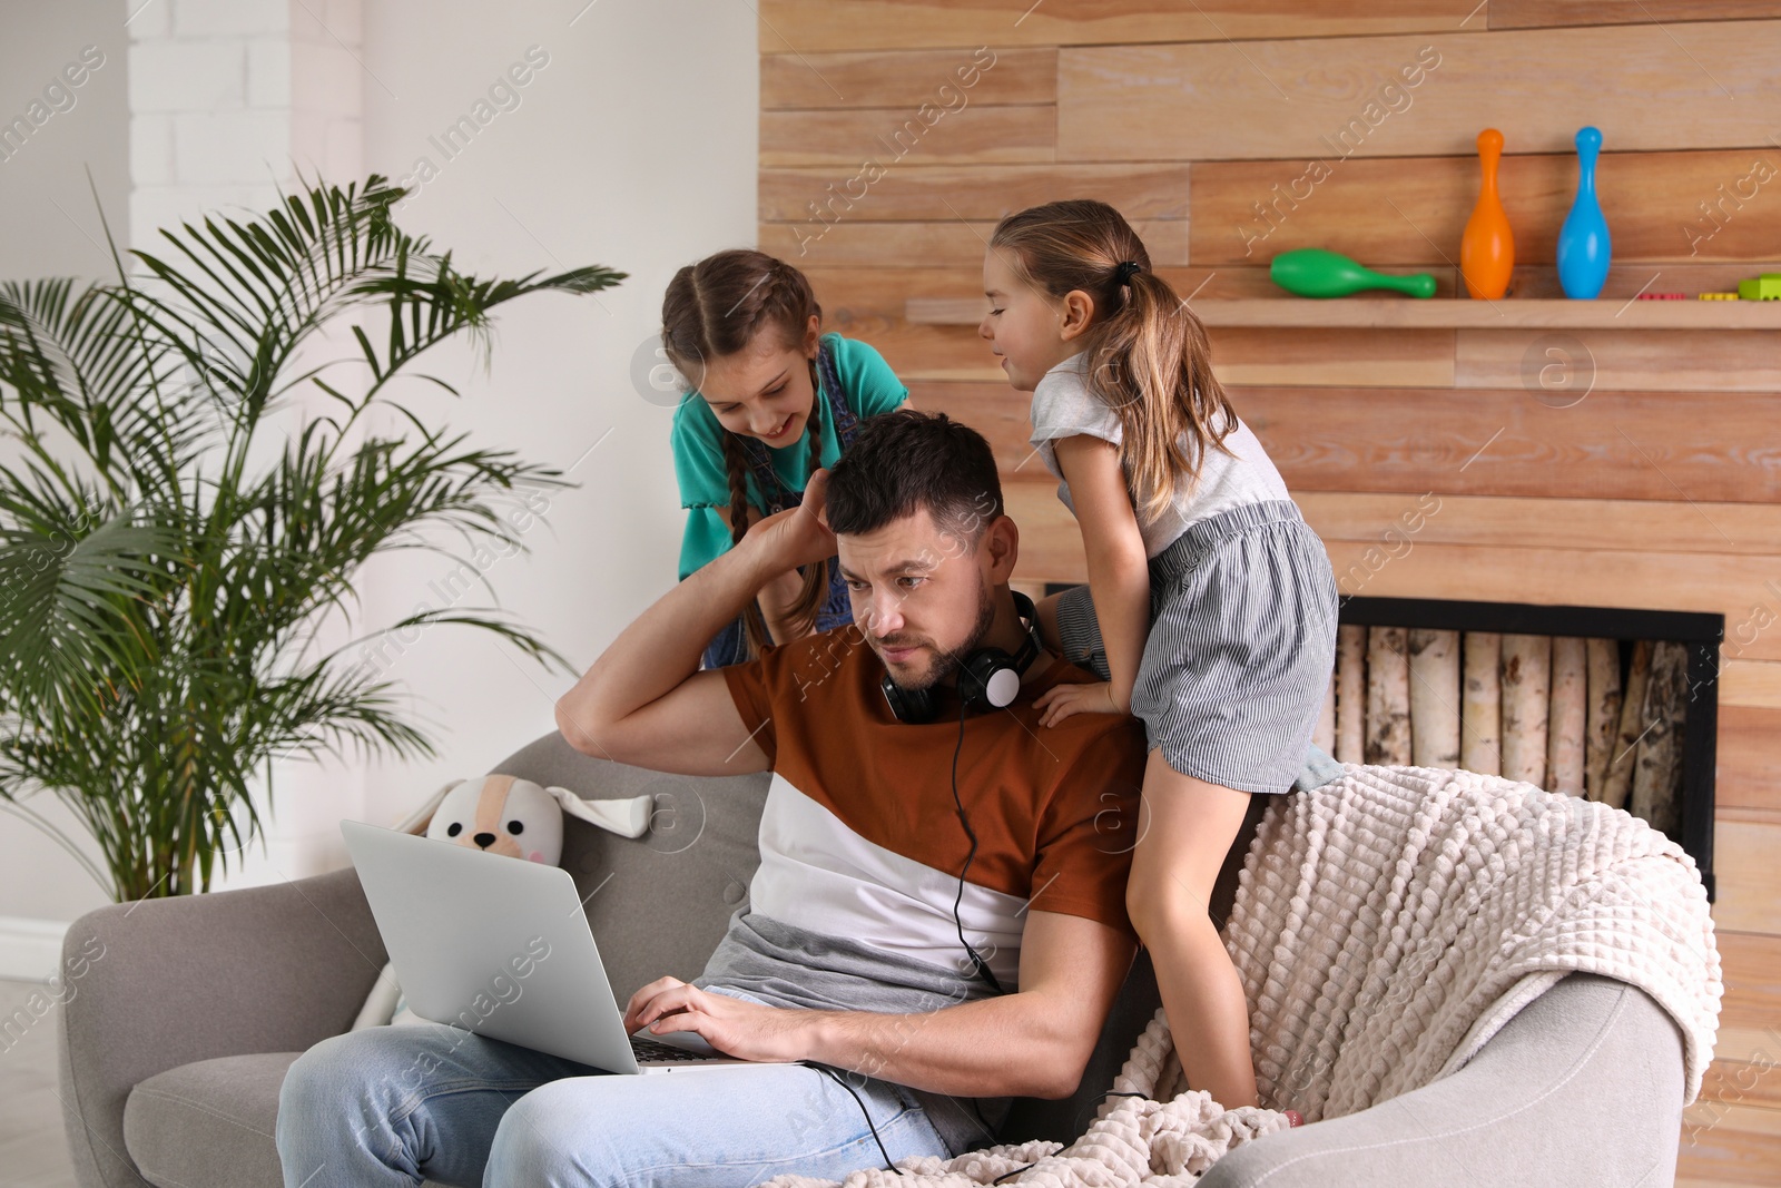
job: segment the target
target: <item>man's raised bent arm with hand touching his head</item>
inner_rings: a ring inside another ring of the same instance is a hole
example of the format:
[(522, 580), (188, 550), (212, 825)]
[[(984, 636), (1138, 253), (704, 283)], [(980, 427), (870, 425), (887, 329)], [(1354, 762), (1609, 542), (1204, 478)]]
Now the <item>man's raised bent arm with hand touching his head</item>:
[(698, 659), (769, 579), (834, 552), (835, 538), (819, 520), (826, 481), (817, 470), (803, 504), (753, 524), (741, 543), (677, 582), (613, 639), (556, 704), (570, 746), (682, 775), (768, 769), (723, 673), (698, 671)]

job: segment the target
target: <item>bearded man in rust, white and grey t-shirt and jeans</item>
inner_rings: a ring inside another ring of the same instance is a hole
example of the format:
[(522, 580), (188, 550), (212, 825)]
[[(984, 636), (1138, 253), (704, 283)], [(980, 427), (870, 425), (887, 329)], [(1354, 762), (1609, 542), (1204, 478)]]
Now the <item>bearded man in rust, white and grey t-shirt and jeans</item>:
[[(837, 552), (853, 625), (698, 671), (757, 590)], [(1010, 1095), (1072, 1094), (1136, 951), (1124, 899), (1143, 728), (1092, 712), (1040, 727), (1035, 698), (1095, 680), (1042, 648), (1010, 705), (962, 712), (960, 663), (1028, 643), (1017, 556), (983, 436), (885, 413), (801, 506), (663, 595), (557, 702), (590, 755), (773, 771), (748, 907), (700, 978), (630, 997), (627, 1029), (821, 1067), (622, 1078), (445, 1028), (349, 1033), (287, 1078), (287, 1183), (317, 1167), (310, 1188), (841, 1179), (985, 1145)], [(899, 721), (885, 673), (926, 691), (933, 720)], [(392, 1076), (445, 1044), (429, 1076)]]

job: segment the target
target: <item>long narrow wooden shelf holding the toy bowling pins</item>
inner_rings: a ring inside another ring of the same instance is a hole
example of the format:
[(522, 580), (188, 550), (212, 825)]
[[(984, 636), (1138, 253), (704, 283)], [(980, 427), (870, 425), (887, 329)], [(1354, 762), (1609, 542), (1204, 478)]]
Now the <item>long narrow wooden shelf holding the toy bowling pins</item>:
[[(981, 299), (910, 297), (903, 315), (976, 326)], [(1781, 330), (1781, 301), (1471, 301), (1453, 297), (1252, 297), (1195, 301), (1208, 326), (1355, 326), (1373, 330)]]

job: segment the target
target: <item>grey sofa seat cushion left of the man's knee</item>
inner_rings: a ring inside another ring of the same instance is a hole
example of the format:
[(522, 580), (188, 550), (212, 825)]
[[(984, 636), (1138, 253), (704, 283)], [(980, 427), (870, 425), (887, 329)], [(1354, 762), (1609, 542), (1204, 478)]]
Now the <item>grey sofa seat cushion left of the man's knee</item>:
[(167, 1069), (130, 1090), (123, 1142), (160, 1188), (280, 1184), (278, 1088), (301, 1053), (219, 1056)]

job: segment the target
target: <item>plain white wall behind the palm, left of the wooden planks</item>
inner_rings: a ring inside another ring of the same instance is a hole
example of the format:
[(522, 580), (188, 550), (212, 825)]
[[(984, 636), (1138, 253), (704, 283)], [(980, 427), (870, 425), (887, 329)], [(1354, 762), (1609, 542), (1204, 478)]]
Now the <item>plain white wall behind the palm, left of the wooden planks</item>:
[[(235, 2), (260, 7), (258, 0)], [(142, 0), (125, 4), (135, 11)], [(175, 30), (182, 16), (223, 20), (221, 12), (235, 11), (223, 0), (151, 4), (169, 5)], [(329, 5), (310, 0), (301, 7), (326, 14), (329, 23), (346, 20), (335, 16), (342, 11), (338, 0)], [(98, 94), (100, 82), (121, 87), (126, 12), (116, 9), (116, 4), (7, 5), (0, 16), (0, 78), (41, 73), (48, 80), (62, 57), (96, 39), (96, 32), (82, 30), (116, 23), (118, 53), (112, 57), (107, 45), (109, 64), (80, 103)], [(353, 82), (362, 102), (363, 169), (401, 180), (422, 157), (436, 169), (419, 178), (419, 194), (401, 210), (403, 226), (431, 235), (435, 246), (452, 249), (458, 267), (477, 274), (515, 276), (582, 264), (630, 274), (597, 297), (538, 296), (508, 306), (497, 319), (493, 367), (486, 376), (468, 349), (452, 347), (420, 360), (422, 370), (458, 387), (461, 401), (420, 383), (401, 390), (401, 399), (424, 420), (468, 431), (468, 443), (513, 449), (529, 461), (565, 470), (575, 467), (570, 479), (581, 488), (554, 493), (549, 509), (525, 533), (533, 552), (499, 559), (484, 575), (500, 606), (577, 668), (586, 668), (675, 581), (684, 513), (668, 452), (670, 410), (639, 394), (632, 360), (659, 324), (663, 287), (679, 265), (720, 248), (755, 242), (759, 75), (753, 11), (705, 0), (600, 0), (586, 7), (584, 0), (499, 5), (363, 0), (344, 11), (353, 9), (358, 9), (360, 27), (337, 27), (329, 36), (338, 32), (338, 45), (356, 46)], [(296, 7), (290, 12), (296, 27), (301, 18)], [(139, 20), (150, 16), (144, 12)], [(20, 30), (21, 23), (41, 28)], [(64, 43), (71, 50), (64, 52)], [(36, 48), (27, 53), (27, 45)], [(495, 114), (486, 126), (447, 159), (435, 139), (461, 116), (479, 114), (477, 102), (488, 100), (490, 85), (509, 66), (525, 61), (529, 46), (538, 46), (534, 62), (540, 55), (549, 61), (534, 66), (524, 87), (515, 87), (518, 103), (500, 96), (508, 110), (492, 103)], [(306, 73), (301, 52), (294, 62), (297, 78), (290, 93), (301, 100), (303, 87), (315, 85), (321, 77), (315, 71), (328, 66)], [(114, 68), (116, 73), (105, 77)], [(239, 89), (248, 96), (255, 85), (253, 64), (244, 59), (244, 68), (249, 73)], [(228, 62), (207, 68), (194, 57), (192, 69), (230, 75), (237, 68)], [(233, 77), (210, 82), (217, 89), (216, 103), (235, 102)], [(0, 110), (25, 98), (21, 84), (0, 84)], [(294, 105), (299, 103), (294, 100)], [(64, 116), (55, 116), (45, 132), (68, 134), (64, 139), (71, 142), (78, 118), (98, 116), (98, 107), (77, 107), (66, 126), (57, 126)], [(107, 160), (116, 171), (126, 112), (114, 103), (105, 119)], [(301, 135), (292, 139), (301, 141)], [(41, 148), (52, 148), (48, 137), (41, 141)], [(27, 153), (37, 148), (34, 141)], [(205, 169), (214, 175), (221, 167), (217, 142), (205, 151)], [(230, 151), (253, 155), (255, 164), (264, 157), (278, 166), (292, 144), (264, 150), (242, 144)], [(50, 159), (50, 153), (41, 157)], [(144, 169), (160, 160), (141, 146), (139, 159)], [(55, 265), (55, 260), (78, 255), (75, 244), (84, 244), (78, 237), (46, 249), (50, 255), (14, 251), (11, 228), (21, 217), (14, 212), (43, 205), (43, 194), (61, 185), (57, 178), (68, 169), (64, 162), (57, 166), (61, 173), (32, 176), (21, 185), (12, 176), (16, 164), (0, 164), (0, 201), (9, 228), (0, 237), (0, 274), (85, 267), (78, 260)], [(159, 182), (144, 176), (142, 183)], [(53, 207), (50, 210), (53, 214)], [(126, 219), (114, 214), (112, 223), (121, 230)], [(91, 255), (91, 246), (85, 251)], [(598, 447), (588, 452), (597, 442)], [(438, 582), (454, 568), (454, 561), (426, 552), (379, 561), (360, 584), (363, 614), (353, 634), (410, 613), (419, 600), (442, 606)], [(476, 591), (456, 606), (488, 602), (484, 591)], [(573, 680), (543, 671), (484, 632), (461, 627), (429, 629), (411, 645), (386, 648), (385, 655), (388, 677), (413, 693), (415, 712), (438, 741), (440, 757), (367, 766), (349, 752), (346, 761), (322, 766), (280, 766), (274, 844), (267, 857), (255, 848), (248, 869), (226, 885), (344, 864), (340, 816), (392, 821), (447, 778), (486, 771), (524, 743), (554, 730), (552, 702)], [(59, 858), (9, 821), (0, 819), (0, 915), (66, 921), (102, 901), (71, 858)]]

